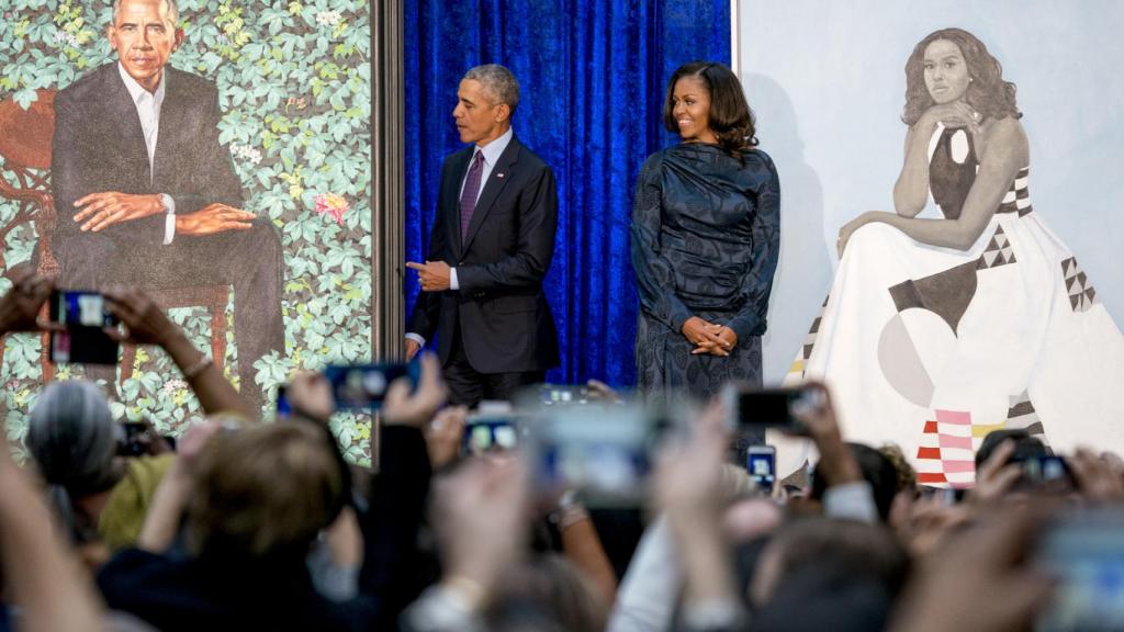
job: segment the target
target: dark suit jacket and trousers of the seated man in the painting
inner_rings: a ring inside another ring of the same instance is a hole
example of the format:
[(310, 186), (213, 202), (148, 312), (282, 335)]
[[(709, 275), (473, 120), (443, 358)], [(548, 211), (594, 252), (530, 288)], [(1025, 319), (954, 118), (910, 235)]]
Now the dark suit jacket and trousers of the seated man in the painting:
[(163, 213), (82, 233), (74, 200), (96, 192), (166, 193), (175, 214), (211, 204), (243, 208), (230, 152), (219, 143), (218, 90), (210, 81), (164, 67), (160, 135), (149, 177), (148, 151), (136, 106), (117, 63), (100, 66), (55, 97), (52, 187), (58, 224), (55, 253), (63, 287), (108, 283), (144, 288), (234, 286), (234, 329), (242, 392), (263, 398), (255, 360), (284, 351), (281, 322), (283, 252), (277, 227), (257, 217), (246, 231), (176, 234), (164, 245)]

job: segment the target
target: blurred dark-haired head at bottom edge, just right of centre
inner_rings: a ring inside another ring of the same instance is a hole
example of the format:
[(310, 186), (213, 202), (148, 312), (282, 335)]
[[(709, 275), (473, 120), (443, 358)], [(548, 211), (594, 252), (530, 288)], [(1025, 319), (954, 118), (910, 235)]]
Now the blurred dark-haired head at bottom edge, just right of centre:
[(487, 613), (488, 630), (604, 630), (608, 605), (564, 557), (536, 556), (513, 568)]

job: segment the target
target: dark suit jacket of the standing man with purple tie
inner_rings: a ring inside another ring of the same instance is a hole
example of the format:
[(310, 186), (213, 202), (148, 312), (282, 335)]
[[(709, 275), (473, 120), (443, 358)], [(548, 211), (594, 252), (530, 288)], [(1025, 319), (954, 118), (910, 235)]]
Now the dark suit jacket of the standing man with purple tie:
[(473, 147), (445, 159), (428, 261), (456, 268), (460, 290), (422, 292), (408, 331), (432, 340), (447, 363), (454, 327), (481, 373), (545, 371), (559, 363), (558, 332), (543, 294), (554, 254), (554, 173), (511, 137), (488, 175), (462, 243), (461, 183)]

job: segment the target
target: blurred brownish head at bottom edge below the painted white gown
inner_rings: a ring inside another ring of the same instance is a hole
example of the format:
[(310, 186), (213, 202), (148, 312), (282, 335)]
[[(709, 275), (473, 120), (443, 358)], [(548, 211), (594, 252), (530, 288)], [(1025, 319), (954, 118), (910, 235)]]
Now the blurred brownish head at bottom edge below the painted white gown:
[[(836, 624), (844, 621), (885, 624), (908, 572), (908, 554), (882, 526), (796, 521), (761, 553), (752, 589), (759, 606), (754, 630), (759, 621), (761, 629), (773, 630), (842, 630)], [(792, 619), (781, 625), (786, 613)]]

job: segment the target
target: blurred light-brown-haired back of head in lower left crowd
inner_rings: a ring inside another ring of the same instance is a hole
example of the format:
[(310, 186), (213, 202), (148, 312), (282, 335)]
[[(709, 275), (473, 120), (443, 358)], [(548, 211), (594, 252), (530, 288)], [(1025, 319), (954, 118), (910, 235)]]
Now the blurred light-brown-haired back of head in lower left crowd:
[(189, 547), (201, 554), (302, 560), (348, 493), (327, 436), (306, 423), (215, 436), (189, 503)]

